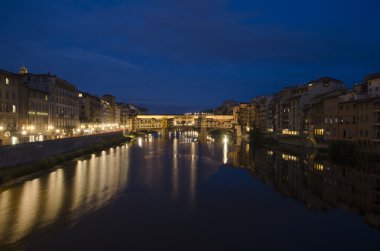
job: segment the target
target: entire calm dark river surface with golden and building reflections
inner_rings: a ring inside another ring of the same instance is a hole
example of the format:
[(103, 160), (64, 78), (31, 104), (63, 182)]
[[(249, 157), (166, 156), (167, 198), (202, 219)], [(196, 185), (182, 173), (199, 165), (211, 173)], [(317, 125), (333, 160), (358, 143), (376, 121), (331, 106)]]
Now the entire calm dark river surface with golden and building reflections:
[(380, 165), (140, 138), (1, 190), (0, 249), (380, 250)]

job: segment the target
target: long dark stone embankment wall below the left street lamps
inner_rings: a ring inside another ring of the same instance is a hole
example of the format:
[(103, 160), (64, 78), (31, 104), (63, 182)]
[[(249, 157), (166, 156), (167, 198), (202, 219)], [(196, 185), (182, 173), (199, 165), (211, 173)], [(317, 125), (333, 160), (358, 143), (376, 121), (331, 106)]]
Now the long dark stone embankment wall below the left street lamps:
[(0, 168), (31, 163), (49, 156), (74, 151), (122, 137), (122, 132), (109, 132), (81, 137), (0, 146)]

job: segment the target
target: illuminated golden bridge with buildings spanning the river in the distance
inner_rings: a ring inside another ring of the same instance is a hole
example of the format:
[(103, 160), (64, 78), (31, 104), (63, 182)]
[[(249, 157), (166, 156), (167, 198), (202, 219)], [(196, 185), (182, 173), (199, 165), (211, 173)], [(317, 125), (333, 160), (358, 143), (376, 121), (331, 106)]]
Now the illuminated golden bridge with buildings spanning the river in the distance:
[(215, 130), (229, 131), (233, 136), (240, 132), (240, 126), (235, 123), (233, 115), (137, 115), (128, 119), (126, 129), (130, 132), (142, 130), (196, 130), (200, 137), (207, 136)]

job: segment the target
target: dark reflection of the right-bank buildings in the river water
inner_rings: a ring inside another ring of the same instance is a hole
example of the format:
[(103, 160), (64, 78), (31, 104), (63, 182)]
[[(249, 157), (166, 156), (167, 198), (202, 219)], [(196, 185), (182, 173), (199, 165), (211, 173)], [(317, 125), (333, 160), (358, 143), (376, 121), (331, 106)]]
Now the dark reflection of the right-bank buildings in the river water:
[(314, 210), (345, 208), (380, 228), (380, 165), (361, 161), (339, 166), (327, 156), (304, 149), (254, 149), (238, 146), (229, 153), (236, 167), (247, 168), (262, 182)]

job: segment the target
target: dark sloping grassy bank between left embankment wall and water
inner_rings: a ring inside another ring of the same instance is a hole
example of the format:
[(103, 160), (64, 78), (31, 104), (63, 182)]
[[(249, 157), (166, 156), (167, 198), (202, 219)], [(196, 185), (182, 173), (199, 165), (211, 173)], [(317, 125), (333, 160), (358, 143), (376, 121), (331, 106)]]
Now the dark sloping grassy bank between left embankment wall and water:
[(60, 154), (53, 154), (26, 164), (3, 167), (0, 169), (0, 189), (11, 186), (12, 184), (21, 182), (25, 179), (38, 176), (42, 172), (46, 172), (47, 170), (50, 170), (54, 166), (63, 162), (129, 142), (132, 139), (133, 136), (125, 137), (122, 133), (120, 133), (117, 136), (112, 135), (112, 137), (108, 140), (107, 137), (103, 137), (102, 140), (96, 143), (89, 144), (75, 150), (62, 152)]

